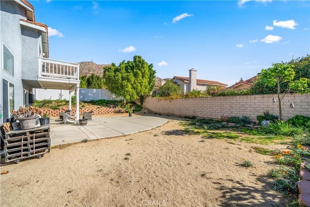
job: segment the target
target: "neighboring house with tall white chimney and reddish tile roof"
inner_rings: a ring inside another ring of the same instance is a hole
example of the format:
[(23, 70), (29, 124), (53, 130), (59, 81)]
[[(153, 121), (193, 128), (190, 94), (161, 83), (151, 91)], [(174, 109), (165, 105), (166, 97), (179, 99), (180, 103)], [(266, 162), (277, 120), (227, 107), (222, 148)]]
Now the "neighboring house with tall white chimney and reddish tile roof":
[(189, 78), (174, 76), (172, 80), (181, 86), (181, 91), (184, 94), (194, 89), (203, 91), (207, 89), (208, 86), (220, 87), (220, 88), (224, 88), (227, 86), (227, 84), (220, 83), (220, 82), (213, 81), (213, 80), (197, 79), (197, 70), (195, 70), (194, 68), (189, 70)]

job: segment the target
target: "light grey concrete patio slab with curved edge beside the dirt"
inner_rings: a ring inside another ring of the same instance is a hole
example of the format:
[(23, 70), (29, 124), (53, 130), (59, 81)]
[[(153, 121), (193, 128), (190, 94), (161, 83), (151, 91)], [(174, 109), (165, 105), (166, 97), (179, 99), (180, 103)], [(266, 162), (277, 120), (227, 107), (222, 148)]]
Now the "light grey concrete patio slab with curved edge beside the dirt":
[(63, 124), (58, 119), (50, 119), (51, 146), (65, 143), (81, 142), (84, 139), (94, 140), (123, 136), (159, 127), (168, 122), (166, 118), (134, 115), (93, 116), (87, 125)]

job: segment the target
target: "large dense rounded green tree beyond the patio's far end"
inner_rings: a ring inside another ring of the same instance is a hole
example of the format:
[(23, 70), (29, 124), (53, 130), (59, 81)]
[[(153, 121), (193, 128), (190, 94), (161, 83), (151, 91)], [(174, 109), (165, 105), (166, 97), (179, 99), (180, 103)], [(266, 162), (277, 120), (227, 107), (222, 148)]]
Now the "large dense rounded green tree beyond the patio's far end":
[(103, 77), (111, 93), (130, 102), (150, 95), (155, 85), (155, 73), (153, 64), (149, 65), (136, 55), (133, 61), (122, 61), (118, 66), (112, 63), (105, 67)]

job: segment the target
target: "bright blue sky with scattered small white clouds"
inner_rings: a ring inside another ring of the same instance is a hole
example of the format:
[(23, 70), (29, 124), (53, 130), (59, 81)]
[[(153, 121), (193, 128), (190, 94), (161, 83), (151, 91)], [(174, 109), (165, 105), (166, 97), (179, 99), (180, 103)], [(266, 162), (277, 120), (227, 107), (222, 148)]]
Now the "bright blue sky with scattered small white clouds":
[(140, 55), (156, 76), (232, 85), (310, 54), (310, 1), (30, 0), (50, 58), (119, 64)]

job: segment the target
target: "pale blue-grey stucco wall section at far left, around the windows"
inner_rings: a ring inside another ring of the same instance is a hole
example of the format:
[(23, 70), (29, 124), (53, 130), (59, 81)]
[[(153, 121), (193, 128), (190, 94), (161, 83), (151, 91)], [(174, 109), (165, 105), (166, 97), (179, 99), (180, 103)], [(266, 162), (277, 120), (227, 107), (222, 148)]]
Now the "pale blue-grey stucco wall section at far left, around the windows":
[[(26, 10), (16, 1), (0, 1), (0, 104), (3, 106), (3, 79), (14, 84), (14, 108), (23, 106), (22, 85), (22, 36), (19, 18), (26, 16)], [(14, 56), (14, 76), (3, 70), (3, 44)], [(2, 113), (3, 111), (0, 111)], [(2, 117), (6, 121), (9, 117)]]

